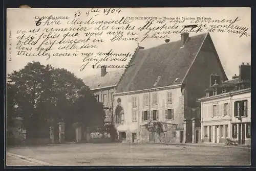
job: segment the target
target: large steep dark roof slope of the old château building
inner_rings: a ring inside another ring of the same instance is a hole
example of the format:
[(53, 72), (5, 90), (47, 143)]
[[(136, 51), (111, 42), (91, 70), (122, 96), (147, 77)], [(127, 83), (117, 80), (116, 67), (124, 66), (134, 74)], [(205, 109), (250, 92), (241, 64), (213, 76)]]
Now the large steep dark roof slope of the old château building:
[(208, 33), (138, 50), (118, 83), (116, 92), (128, 92), (181, 84)]

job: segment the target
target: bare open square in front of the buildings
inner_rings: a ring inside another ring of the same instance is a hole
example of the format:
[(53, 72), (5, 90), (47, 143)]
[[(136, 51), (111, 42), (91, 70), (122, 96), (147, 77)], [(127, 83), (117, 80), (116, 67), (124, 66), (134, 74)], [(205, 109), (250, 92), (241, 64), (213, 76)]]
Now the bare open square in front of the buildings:
[[(65, 144), (8, 148), (51, 165), (249, 165), (250, 149), (164, 144)], [(16, 164), (15, 164), (16, 163)], [(7, 158), (7, 165), (29, 165)], [(31, 164), (33, 165), (33, 164)]]

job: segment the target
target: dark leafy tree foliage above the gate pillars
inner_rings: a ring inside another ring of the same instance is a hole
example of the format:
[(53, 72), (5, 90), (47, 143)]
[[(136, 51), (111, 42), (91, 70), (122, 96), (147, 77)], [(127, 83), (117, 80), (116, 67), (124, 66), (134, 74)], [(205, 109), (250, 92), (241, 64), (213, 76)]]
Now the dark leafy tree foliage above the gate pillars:
[(102, 125), (104, 112), (89, 87), (74, 74), (32, 62), (8, 75), (7, 116), (22, 117), (29, 137), (37, 134), (35, 128), (46, 128), (48, 135), (49, 126), (59, 121)]

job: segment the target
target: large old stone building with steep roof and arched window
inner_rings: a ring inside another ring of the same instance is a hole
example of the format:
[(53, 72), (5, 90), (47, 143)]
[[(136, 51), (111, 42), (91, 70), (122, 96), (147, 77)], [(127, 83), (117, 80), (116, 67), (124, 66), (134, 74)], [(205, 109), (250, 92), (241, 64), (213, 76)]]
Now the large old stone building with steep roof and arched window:
[(227, 80), (209, 33), (191, 37), (183, 33), (179, 41), (137, 48), (129, 65), (114, 94), (119, 139), (199, 142), (196, 100), (205, 94), (211, 73)]

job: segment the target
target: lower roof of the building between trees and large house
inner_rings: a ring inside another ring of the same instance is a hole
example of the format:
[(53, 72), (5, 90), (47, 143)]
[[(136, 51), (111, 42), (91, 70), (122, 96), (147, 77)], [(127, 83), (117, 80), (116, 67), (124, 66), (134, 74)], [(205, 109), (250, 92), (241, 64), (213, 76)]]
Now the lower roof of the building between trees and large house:
[(101, 77), (100, 74), (91, 75), (83, 78), (84, 84), (88, 85), (91, 90), (104, 87), (116, 86), (124, 69), (108, 71)]

